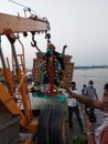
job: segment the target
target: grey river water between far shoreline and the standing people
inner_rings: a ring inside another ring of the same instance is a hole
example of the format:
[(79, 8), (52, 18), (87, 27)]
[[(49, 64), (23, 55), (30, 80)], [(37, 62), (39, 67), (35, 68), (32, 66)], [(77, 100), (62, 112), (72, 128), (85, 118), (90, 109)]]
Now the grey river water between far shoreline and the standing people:
[(94, 81), (94, 86), (97, 90), (98, 97), (102, 97), (104, 85), (108, 83), (108, 69), (82, 69), (74, 70), (73, 81), (76, 82), (77, 90), (82, 93), (84, 84), (88, 84), (88, 81)]

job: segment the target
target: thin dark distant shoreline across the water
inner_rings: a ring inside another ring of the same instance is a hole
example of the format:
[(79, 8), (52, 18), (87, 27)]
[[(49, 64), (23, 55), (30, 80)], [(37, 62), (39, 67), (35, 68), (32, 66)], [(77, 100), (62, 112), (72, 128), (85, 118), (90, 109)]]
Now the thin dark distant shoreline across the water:
[(91, 65), (91, 66), (75, 66), (75, 70), (82, 70), (82, 69), (108, 69), (108, 65)]

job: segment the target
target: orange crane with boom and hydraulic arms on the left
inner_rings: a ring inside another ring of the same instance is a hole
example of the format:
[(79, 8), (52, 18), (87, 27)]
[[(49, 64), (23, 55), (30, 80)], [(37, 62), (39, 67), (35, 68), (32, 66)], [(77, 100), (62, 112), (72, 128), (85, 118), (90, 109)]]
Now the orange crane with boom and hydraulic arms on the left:
[[(6, 35), (11, 44), (12, 56), (15, 63), (15, 76), (18, 79), (19, 85), (15, 89), (12, 73), (9, 65), (9, 60), (7, 62), (4, 60), (4, 55), (1, 48), (0, 41), (0, 58), (3, 66), (3, 74), (7, 83), (8, 91), (6, 86), (0, 83), (0, 113), (11, 113), (11, 114), (20, 114), (20, 126), (21, 130), (28, 133), (32, 133), (35, 135), (37, 127), (37, 120), (33, 121), (33, 115), (31, 112), (31, 105), (29, 100), (29, 90), (26, 84), (26, 75), (25, 72), (22, 71), (18, 61), (18, 55), (15, 51), (15, 33), (23, 33), (26, 35), (26, 32), (31, 33), (43, 33), (50, 30), (50, 22), (46, 19), (41, 19), (36, 16), (31, 16), (30, 18), (22, 18), (20, 16), (11, 16), (6, 13), (0, 13), (0, 37)], [(23, 63), (23, 62), (22, 62)], [(24, 113), (20, 110), (15, 102), (15, 96), (18, 91), (21, 92), (21, 101), (24, 106)], [(33, 137), (25, 143), (32, 144)]]

